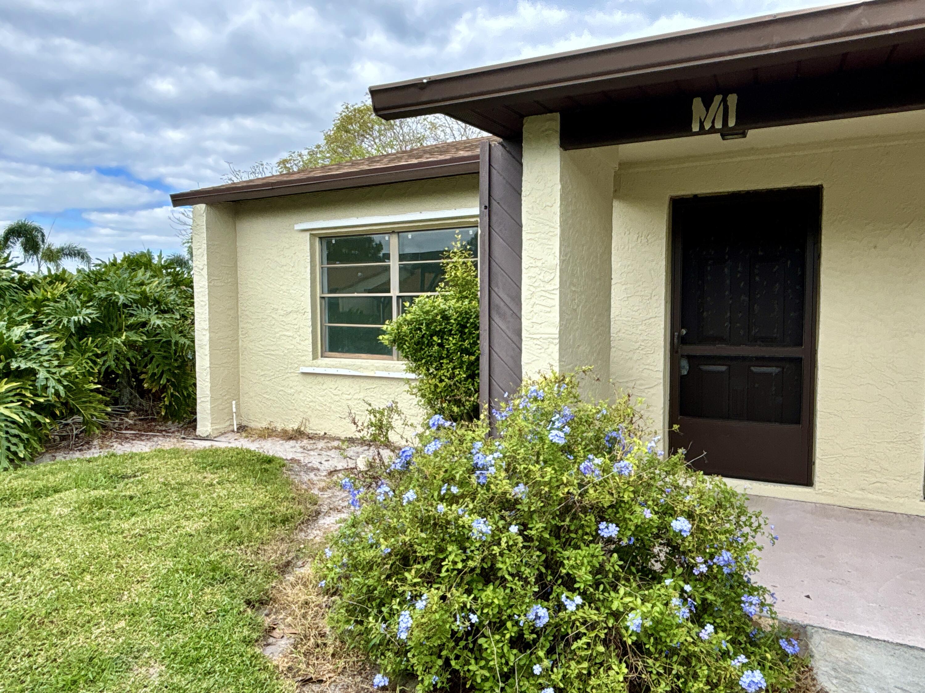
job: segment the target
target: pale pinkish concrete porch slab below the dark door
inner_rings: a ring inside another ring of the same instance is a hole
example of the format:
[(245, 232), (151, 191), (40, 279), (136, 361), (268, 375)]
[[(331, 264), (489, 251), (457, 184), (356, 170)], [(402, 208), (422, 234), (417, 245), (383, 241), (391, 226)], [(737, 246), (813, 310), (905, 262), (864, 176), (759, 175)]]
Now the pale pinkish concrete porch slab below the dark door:
[(780, 535), (759, 582), (788, 621), (925, 649), (925, 517), (751, 496)]

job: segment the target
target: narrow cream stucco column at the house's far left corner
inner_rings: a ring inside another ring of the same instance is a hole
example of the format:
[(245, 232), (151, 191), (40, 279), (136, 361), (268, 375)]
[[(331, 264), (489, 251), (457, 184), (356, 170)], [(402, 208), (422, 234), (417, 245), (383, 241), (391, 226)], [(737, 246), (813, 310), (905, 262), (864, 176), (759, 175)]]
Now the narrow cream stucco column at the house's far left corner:
[(238, 250), (230, 205), (192, 208), (192, 284), (196, 310), (196, 432), (231, 428), (240, 411)]

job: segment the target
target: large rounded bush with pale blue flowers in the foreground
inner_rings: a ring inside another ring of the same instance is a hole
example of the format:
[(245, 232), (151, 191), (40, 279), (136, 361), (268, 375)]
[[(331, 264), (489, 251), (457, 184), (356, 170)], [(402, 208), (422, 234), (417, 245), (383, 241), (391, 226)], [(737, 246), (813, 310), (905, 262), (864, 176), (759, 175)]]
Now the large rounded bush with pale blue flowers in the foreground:
[(765, 520), (742, 496), (665, 458), (628, 399), (584, 404), (571, 378), (527, 383), (493, 416), (495, 437), (487, 418), (435, 416), (419, 446), (344, 481), (359, 509), (321, 577), (376, 687), (792, 685), (804, 662), (748, 577)]

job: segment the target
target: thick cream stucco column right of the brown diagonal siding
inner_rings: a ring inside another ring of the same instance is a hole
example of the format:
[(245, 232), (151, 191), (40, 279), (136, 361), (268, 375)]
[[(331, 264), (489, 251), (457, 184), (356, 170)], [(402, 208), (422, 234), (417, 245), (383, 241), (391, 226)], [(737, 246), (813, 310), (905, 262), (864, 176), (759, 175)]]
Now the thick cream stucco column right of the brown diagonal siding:
[(563, 152), (559, 115), (524, 120), (524, 377), (592, 366), (586, 395), (611, 394), (613, 166)]

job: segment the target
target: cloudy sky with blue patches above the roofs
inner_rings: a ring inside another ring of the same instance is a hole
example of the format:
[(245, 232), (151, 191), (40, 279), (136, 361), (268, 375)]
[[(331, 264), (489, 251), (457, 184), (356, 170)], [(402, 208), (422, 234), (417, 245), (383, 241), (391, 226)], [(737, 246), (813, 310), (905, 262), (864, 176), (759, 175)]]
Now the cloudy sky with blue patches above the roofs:
[(170, 192), (314, 144), (370, 84), (825, 0), (2, 0), (0, 228), (179, 249)]

